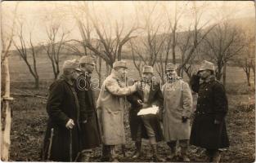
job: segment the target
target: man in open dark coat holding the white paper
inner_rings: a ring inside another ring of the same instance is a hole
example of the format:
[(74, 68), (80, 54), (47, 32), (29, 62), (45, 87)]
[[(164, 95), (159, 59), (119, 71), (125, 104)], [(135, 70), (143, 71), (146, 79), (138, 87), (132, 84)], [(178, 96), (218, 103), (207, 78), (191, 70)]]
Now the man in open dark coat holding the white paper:
[(157, 153), (156, 143), (163, 140), (163, 130), (160, 126), (157, 115), (137, 116), (141, 108), (150, 108), (153, 105), (163, 108), (163, 95), (159, 83), (152, 81), (153, 68), (144, 66), (142, 70), (142, 80), (140, 89), (128, 96), (128, 101), (132, 104), (129, 111), (129, 123), (132, 140), (135, 141), (136, 152), (132, 156), (141, 156), (141, 139), (150, 139), (150, 146), (153, 150), (155, 161), (164, 161)]

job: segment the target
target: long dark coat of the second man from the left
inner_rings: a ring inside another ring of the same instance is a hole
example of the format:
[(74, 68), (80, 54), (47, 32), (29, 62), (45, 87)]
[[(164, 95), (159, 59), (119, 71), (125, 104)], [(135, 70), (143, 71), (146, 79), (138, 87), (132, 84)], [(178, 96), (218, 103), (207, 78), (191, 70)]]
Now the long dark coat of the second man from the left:
[(91, 77), (88, 73), (82, 71), (76, 84), (80, 108), (82, 150), (97, 148), (101, 144), (101, 133), (90, 80)]

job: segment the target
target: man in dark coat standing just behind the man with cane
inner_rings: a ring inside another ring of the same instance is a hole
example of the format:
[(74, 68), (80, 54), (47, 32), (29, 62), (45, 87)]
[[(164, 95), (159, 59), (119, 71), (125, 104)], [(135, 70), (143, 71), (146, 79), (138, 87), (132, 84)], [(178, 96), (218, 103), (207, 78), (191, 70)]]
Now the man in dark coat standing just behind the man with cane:
[(88, 162), (92, 148), (101, 144), (101, 133), (97, 118), (97, 108), (92, 94), (91, 73), (94, 70), (94, 59), (83, 56), (79, 59), (79, 77), (76, 80), (76, 91), (79, 98), (81, 148), (79, 161)]

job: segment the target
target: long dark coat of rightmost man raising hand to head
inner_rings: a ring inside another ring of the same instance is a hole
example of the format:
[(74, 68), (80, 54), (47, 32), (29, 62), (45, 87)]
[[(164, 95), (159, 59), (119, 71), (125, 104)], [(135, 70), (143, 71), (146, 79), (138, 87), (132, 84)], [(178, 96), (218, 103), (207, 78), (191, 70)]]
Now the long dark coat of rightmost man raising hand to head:
[[(191, 88), (198, 93), (195, 119), (191, 128), (191, 145), (209, 149), (229, 147), (225, 123), (228, 104), (224, 87), (215, 77), (200, 83), (200, 77), (193, 76)], [(221, 123), (216, 125), (214, 120)]]

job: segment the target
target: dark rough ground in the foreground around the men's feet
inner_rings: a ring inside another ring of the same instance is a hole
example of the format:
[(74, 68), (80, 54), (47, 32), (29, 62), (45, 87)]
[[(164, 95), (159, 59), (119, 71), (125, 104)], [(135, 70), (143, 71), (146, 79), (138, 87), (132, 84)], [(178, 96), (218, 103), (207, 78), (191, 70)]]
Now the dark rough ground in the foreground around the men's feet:
[[(48, 84), (47, 84), (48, 85)], [(47, 85), (40, 90), (34, 90), (24, 83), (11, 86), (12, 92), (26, 91), (38, 95), (47, 95)], [(242, 86), (242, 85), (241, 85)], [(255, 158), (255, 100), (254, 92), (244, 88), (237, 90), (239, 86), (231, 86), (227, 89), (229, 99), (229, 112), (227, 114), (227, 131), (231, 147), (222, 153), (222, 162), (254, 162)], [(10, 161), (40, 161), (39, 152), (42, 147), (43, 135), (46, 129), (47, 113), (46, 99), (37, 97), (14, 96), (12, 102), (12, 125), (11, 125), (11, 158)], [(119, 161), (153, 161), (148, 140), (143, 140), (144, 156), (140, 159), (131, 159), (134, 152), (134, 143), (130, 139), (128, 126), (128, 112), (125, 112), (126, 130), (126, 156), (122, 156), (120, 147), (117, 147)], [(166, 143), (159, 143), (159, 155), (166, 157), (169, 149)], [(100, 161), (101, 148), (92, 152), (90, 161)], [(205, 162), (207, 157), (204, 149), (190, 147), (189, 156), (191, 161)], [(170, 161), (170, 160), (167, 160)], [(180, 160), (172, 160), (180, 161)]]

